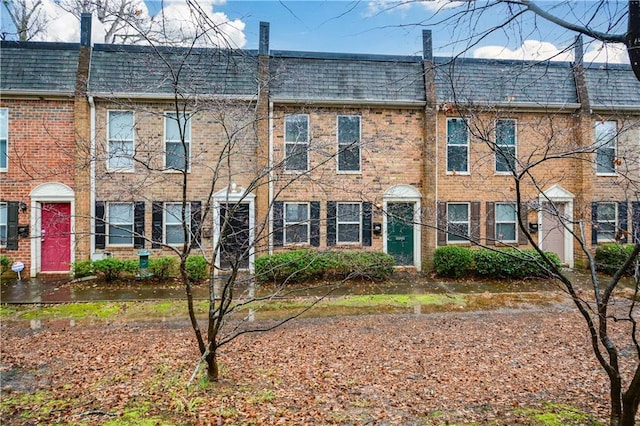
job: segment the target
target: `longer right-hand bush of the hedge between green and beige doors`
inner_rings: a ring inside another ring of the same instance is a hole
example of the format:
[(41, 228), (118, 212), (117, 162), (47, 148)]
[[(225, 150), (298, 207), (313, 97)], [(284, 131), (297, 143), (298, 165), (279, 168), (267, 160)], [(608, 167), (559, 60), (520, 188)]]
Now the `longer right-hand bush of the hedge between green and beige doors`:
[[(482, 277), (523, 279), (549, 276), (542, 256), (532, 249), (477, 249), (472, 253), (475, 273)], [(545, 252), (545, 256), (560, 266), (560, 259), (555, 253)]]

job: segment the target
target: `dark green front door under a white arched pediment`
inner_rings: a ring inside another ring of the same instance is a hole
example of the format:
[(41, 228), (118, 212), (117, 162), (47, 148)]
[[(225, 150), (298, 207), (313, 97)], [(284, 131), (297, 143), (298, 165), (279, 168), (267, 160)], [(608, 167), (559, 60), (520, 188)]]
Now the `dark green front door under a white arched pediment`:
[(413, 204), (387, 204), (387, 253), (398, 266), (413, 266)]

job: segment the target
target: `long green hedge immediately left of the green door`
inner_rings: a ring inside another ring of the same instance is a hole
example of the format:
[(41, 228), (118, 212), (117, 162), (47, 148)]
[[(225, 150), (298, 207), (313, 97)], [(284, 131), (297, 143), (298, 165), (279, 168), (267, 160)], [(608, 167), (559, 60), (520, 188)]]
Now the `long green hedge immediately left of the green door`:
[(255, 261), (260, 282), (297, 283), (317, 279), (384, 280), (393, 273), (392, 256), (379, 252), (290, 250)]

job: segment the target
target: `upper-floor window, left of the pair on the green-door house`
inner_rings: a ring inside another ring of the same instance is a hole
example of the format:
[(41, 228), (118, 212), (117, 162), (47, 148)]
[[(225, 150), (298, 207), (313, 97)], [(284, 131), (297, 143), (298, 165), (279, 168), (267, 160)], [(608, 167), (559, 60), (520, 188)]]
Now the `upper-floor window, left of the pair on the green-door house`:
[(284, 168), (304, 172), (309, 169), (309, 116), (288, 115), (284, 118)]

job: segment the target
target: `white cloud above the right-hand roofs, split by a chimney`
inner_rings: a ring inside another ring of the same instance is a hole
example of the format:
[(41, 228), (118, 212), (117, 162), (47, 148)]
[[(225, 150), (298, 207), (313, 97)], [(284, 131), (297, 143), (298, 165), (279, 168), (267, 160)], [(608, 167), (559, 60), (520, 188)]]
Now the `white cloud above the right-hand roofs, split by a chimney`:
[[(573, 61), (573, 48), (560, 49), (553, 43), (525, 40), (520, 47), (511, 50), (504, 46), (484, 46), (473, 51), (474, 58), (517, 59), (541, 61)], [(621, 44), (590, 43), (584, 54), (585, 62), (629, 63), (626, 48)]]

